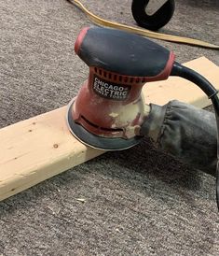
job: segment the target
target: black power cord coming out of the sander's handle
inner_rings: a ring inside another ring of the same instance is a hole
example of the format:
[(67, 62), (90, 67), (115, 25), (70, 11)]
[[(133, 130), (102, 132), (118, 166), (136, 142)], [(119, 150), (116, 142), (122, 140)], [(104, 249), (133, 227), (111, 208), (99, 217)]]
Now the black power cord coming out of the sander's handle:
[(212, 100), (212, 106), (215, 112), (215, 118), (217, 123), (217, 167), (216, 167), (216, 202), (219, 211), (219, 98), (217, 96), (218, 91), (212, 86), (212, 84), (196, 71), (175, 62), (172, 66), (171, 76), (177, 76), (190, 80), (198, 85), (198, 87), (205, 92), (205, 94)]

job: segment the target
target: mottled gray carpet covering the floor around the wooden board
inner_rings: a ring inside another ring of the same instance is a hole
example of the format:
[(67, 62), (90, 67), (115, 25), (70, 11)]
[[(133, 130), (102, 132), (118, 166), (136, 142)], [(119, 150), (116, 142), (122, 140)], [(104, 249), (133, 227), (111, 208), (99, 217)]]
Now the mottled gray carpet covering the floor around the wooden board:
[[(83, 3), (135, 25), (131, 1)], [(161, 31), (219, 43), (218, 3), (178, 0)], [(86, 16), (64, 0), (4, 0), (0, 20), (0, 127), (66, 105), (88, 75), (74, 53)], [(179, 62), (219, 64), (218, 51), (157, 42)], [(0, 203), (0, 255), (219, 255), (214, 181), (145, 139)]]

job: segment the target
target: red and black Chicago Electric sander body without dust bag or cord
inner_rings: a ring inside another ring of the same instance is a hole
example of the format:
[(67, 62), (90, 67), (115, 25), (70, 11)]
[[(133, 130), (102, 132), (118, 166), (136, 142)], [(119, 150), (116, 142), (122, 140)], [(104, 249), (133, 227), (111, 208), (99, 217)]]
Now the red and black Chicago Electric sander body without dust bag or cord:
[(89, 78), (70, 103), (70, 131), (96, 149), (128, 149), (142, 139), (147, 116), (142, 88), (169, 77), (174, 54), (143, 36), (86, 27), (75, 53), (89, 65)]

